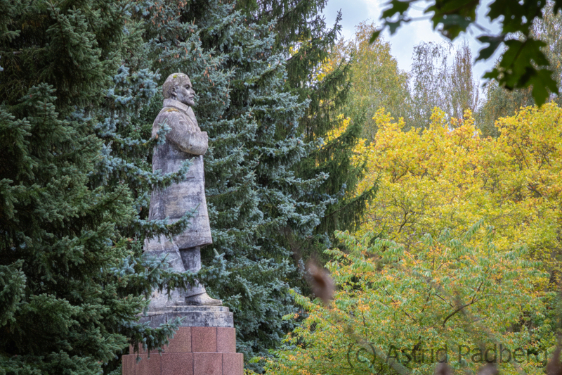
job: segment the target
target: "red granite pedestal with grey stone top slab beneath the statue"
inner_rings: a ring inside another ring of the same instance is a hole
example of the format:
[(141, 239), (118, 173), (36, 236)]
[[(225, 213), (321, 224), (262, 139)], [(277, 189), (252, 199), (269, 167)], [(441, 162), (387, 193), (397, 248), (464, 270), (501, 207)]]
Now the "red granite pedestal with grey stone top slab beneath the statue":
[(223, 306), (175, 306), (149, 310), (141, 322), (159, 326), (184, 318), (174, 338), (157, 351), (140, 348), (122, 357), (123, 375), (243, 375), (244, 355), (236, 352), (233, 313)]

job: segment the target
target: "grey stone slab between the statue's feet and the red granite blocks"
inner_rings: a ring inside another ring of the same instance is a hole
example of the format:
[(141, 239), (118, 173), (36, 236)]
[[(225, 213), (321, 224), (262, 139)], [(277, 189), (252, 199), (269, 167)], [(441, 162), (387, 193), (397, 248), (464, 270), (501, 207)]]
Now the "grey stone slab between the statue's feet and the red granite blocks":
[(225, 306), (169, 306), (151, 309), (141, 322), (157, 327), (174, 318), (183, 318), (180, 326), (233, 327), (233, 313)]

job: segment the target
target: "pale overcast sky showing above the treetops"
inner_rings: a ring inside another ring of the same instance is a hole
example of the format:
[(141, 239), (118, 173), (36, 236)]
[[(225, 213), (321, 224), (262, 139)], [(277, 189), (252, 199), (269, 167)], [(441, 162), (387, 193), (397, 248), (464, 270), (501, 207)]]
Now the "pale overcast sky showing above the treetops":
[[(484, 4), (489, 4), (491, 0), (485, 0)], [(387, 0), (328, 0), (328, 4), (324, 10), (324, 15), (328, 25), (333, 25), (336, 20), (336, 14), (341, 10), (342, 20), (341, 25), (343, 27), (342, 36), (345, 39), (352, 39), (355, 34), (355, 25), (365, 20), (372, 20), (375, 23), (379, 22), (379, 17), (382, 10), (385, 8)], [(419, 1), (415, 3), (415, 7), (423, 10), (426, 8), (426, 2)], [(479, 25), (486, 27), (492, 32), (497, 32), (499, 30), (498, 23), (491, 24), (489, 18), (485, 17), (485, 13), (488, 12), (488, 8), (483, 5), (478, 8), (477, 22)], [(414, 11), (410, 13), (412, 17), (420, 17), (423, 15), (421, 11)], [(476, 58), (478, 56), (478, 51), (482, 48), (482, 45), (478, 43), (475, 36), (481, 34), (479, 30), (474, 27), (469, 29), (468, 34), (462, 34), (461, 37), (455, 40), (455, 46), (462, 44), (463, 40), (469, 42), (471, 47), (472, 56)], [(402, 70), (410, 70), (412, 65), (412, 52), (414, 51), (414, 46), (420, 42), (443, 42), (445, 40), (438, 32), (434, 32), (431, 29), (430, 20), (417, 20), (408, 25), (400, 27), (396, 34), (390, 37), (388, 30), (383, 33), (384, 39), (391, 42), (392, 55), (398, 60), (398, 66)], [(481, 80), (482, 75), (486, 70), (490, 70), (497, 59), (497, 54), (492, 56), (488, 61), (478, 62), (474, 66), (474, 77)], [(483, 81), (481, 80), (481, 83)]]

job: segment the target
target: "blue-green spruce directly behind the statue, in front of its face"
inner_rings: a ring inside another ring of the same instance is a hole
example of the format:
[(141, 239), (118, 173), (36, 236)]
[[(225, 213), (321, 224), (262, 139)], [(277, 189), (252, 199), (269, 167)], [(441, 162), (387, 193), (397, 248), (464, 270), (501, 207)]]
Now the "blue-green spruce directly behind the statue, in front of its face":
[[(306, 241), (325, 211), (310, 191), (326, 175), (301, 179), (293, 171), (319, 145), (299, 132), (307, 102), (285, 90), (273, 22), (249, 23), (235, 3), (218, 0), (162, 1), (143, 19), (150, 68), (162, 78), (190, 76), (195, 115), (209, 134), (204, 165), (214, 243), (202, 258), (210, 271), (219, 254), (226, 268), (206, 280), (207, 291), (234, 312), (237, 350), (246, 360), (266, 356), (293, 328), (282, 317), (296, 312), (289, 288), (300, 275), (284, 231)], [(152, 122), (161, 106), (155, 96), (138, 125)]]

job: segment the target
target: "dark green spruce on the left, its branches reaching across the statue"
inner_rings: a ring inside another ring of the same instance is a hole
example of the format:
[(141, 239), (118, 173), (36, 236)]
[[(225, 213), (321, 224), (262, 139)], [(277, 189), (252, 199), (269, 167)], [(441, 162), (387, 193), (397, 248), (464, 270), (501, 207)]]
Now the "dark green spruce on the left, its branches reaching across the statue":
[(1, 5), (0, 374), (119, 372), (129, 343), (157, 348), (176, 329), (138, 324), (146, 295), (192, 279), (141, 246), (189, 217), (146, 222), (135, 192), (181, 174), (131, 163), (155, 141), (116, 131), (158, 76), (119, 68), (143, 48), (128, 1)]

